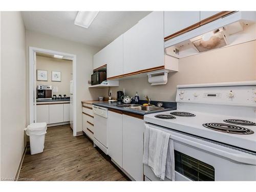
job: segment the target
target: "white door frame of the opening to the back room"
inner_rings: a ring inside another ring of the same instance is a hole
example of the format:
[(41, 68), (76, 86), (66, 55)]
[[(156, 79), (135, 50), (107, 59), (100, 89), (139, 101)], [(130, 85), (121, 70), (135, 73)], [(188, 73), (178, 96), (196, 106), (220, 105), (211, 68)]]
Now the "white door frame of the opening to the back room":
[(62, 55), (72, 58), (73, 70), (73, 136), (76, 136), (76, 55), (53, 51), (49, 49), (41, 49), (36, 47), (29, 47), (29, 123), (36, 121), (36, 63), (35, 53), (48, 53)]

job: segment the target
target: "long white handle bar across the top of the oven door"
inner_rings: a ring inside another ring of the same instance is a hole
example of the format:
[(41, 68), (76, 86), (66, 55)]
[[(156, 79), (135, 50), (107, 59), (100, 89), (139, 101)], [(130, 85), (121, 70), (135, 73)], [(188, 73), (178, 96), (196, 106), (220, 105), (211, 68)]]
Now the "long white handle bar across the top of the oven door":
[[(184, 135), (184, 137), (189, 137), (189, 136)], [(183, 138), (183, 137), (179, 137), (177, 135), (172, 135), (172, 134), (170, 136), (170, 139), (173, 139), (174, 141), (179, 141), (179, 142), (182, 142), (182, 143), (185, 143), (185, 144), (197, 147), (197, 148), (201, 148), (204, 151), (211, 152), (211, 153), (229, 158), (229, 159), (237, 161), (237, 162), (256, 165), (256, 156), (246, 154), (246, 153), (243, 153), (243, 152), (230, 153), (228, 151), (224, 151), (223, 149), (221, 149), (225, 146), (217, 145), (217, 144), (214, 144), (214, 143), (211, 143), (211, 142), (207, 142), (205, 140), (200, 140), (200, 142), (207, 143), (207, 145), (206, 145), (206, 144), (202, 144), (202, 143), (192, 141), (192, 140), (189, 140), (189, 139), (186, 139), (186, 138)], [(209, 144), (211, 146), (209, 146)], [(228, 150), (230, 151), (231, 149), (228, 148)], [(236, 152), (235, 150), (233, 150), (233, 151)]]

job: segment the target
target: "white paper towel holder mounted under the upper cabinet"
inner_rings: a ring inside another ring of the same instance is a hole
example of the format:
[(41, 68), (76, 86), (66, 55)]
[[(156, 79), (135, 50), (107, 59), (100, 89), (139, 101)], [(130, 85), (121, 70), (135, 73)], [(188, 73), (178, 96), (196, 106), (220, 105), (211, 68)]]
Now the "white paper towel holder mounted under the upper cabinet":
[(151, 86), (157, 86), (159, 84), (166, 84), (167, 83), (167, 75), (169, 71), (166, 69), (153, 71), (147, 73), (148, 82), (151, 83)]

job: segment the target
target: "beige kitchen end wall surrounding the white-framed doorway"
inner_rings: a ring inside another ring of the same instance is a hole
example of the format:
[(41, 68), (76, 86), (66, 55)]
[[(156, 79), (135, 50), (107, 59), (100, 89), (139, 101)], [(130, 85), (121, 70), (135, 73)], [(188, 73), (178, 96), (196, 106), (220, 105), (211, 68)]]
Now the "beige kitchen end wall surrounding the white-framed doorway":
[[(79, 44), (46, 34), (41, 34), (34, 31), (26, 30), (26, 54), (27, 54), (27, 73), (29, 70), (29, 47), (36, 47), (42, 49), (49, 49), (69, 54), (75, 54), (77, 60), (76, 74), (77, 74), (77, 132), (82, 131), (82, 105), (81, 100), (92, 100), (97, 99), (101, 90), (99, 89), (88, 89), (90, 84), (88, 80), (91, 79), (93, 70), (93, 55), (99, 51), (99, 48)], [(27, 77), (27, 93), (29, 79)], [(27, 98), (27, 106), (29, 106), (29, 98)], [(29, 111), (27, 111), (29, 122)]]

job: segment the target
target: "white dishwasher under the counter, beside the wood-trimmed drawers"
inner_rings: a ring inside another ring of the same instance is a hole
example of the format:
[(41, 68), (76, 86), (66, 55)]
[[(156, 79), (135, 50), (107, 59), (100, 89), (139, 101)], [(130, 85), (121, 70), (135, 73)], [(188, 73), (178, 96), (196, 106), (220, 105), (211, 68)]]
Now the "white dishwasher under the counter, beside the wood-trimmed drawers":
[(93, 105), (94, 134), (93, 142), (108, 155), (108, 109)]

